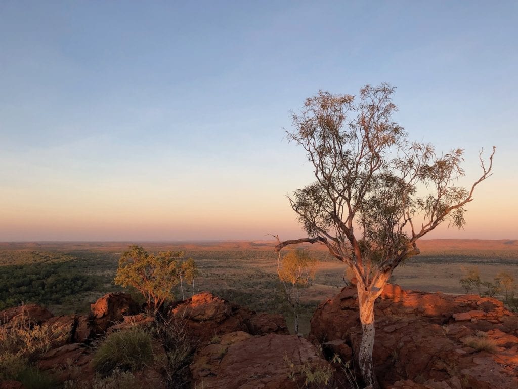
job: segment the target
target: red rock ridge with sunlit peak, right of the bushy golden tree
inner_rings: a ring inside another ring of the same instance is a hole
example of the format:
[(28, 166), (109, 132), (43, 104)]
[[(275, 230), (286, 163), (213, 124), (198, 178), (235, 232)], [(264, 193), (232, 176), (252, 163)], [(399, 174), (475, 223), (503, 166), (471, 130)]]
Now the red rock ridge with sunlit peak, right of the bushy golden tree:
[(288, 334), (282, 315), (257, 314), (209, 292), (172, 305), (168, 315), (176, 321), (185, 322), (185, 328), (201, 342), (235, 331), (253, 335)]

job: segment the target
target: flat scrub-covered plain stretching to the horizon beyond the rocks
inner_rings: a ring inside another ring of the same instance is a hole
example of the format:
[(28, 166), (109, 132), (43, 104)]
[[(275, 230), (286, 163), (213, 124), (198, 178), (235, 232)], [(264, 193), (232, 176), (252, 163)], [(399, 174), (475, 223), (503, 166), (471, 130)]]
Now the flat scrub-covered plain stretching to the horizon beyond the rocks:
[[(130, 242), (0, 243), (0, 309), (22, 303), (42, 304), (55, 313), (84, 313), (113, 284), (118, 260)], [(194, 291), (208, 290), (227, 300), (264, 312), (291, 314), (277, 276), (272, 242), (139, 242), (149, 252), (184, 251), (200, 270)], [(309, 330), (316, 305), (346, 285), (343, 263), (318, 245), (305, 245), (320, 261), (303, 296), (301, 332)], [(518, 281), (518, 240), (423, 240), (421, 255), (394, 272), (405, 289), (463, 294), (459, 280), (476, 267), (483, 281), (507, 272)], [(179, 294), (177, 294), (179, 296)], [(138, 299), (138, 294), (134, 297)]]

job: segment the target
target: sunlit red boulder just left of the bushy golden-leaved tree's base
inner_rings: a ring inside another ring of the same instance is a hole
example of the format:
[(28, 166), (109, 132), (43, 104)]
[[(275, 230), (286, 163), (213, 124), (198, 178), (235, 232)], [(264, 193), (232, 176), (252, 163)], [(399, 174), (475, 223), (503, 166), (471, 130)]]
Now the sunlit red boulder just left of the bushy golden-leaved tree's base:
[(108, 293), (90, 305), (94, 331), (105, 332), (106, 329), (124, 320), (125, 315), (134, 315), (139, 311), (137, 303), (127, 293)]

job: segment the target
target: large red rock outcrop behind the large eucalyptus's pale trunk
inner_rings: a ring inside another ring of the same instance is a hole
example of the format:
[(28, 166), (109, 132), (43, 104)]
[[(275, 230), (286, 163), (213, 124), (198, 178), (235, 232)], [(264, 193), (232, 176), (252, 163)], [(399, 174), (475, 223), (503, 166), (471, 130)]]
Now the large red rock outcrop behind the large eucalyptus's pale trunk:
[[(373, 359), (382, 387), (518, 387), (518, 315), (500, 301), (387, 285), (375, 315)], [(355, 287), (320, 304), (311, 319), (311, 337), (335, 348), (341, 341), (357, 355), (361, 336)]]

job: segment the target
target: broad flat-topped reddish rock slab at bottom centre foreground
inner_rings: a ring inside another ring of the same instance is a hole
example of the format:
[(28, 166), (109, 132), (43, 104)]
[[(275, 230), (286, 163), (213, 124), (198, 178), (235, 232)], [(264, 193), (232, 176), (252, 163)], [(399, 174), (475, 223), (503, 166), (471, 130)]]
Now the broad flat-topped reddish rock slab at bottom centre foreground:
[(306, 339), (258, 337), (242, 331), (221, 336), (202, 349), (191, 365), (193, 386), (212, 389), (295, 389), (304, 386), (305, 371), (319, 369), (333, 371)]

